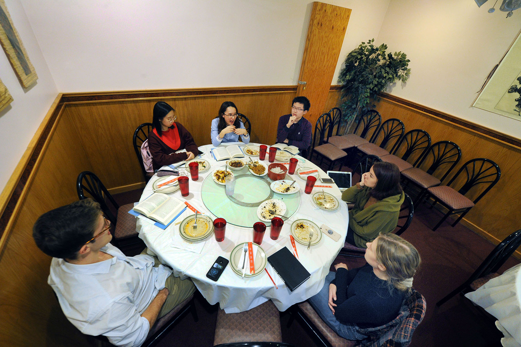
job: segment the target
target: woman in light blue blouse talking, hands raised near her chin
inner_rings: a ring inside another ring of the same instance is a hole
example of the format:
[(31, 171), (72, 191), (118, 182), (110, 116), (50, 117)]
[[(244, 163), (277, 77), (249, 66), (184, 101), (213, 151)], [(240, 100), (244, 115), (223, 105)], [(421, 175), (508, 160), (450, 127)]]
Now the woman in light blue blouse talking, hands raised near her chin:
[(239, 135), (242, 142), (250, 142), (250, 135), (237, 117), (237, 106), (231, 101), (225, 101), (219, 108), (217, 117), (212, 120), (212, 144), (217, 147), (221, 142), (238, 142)]

